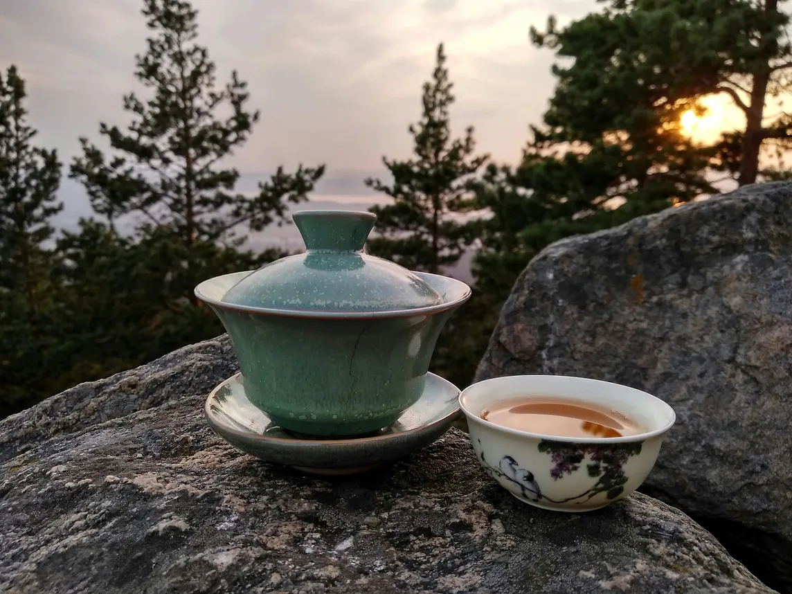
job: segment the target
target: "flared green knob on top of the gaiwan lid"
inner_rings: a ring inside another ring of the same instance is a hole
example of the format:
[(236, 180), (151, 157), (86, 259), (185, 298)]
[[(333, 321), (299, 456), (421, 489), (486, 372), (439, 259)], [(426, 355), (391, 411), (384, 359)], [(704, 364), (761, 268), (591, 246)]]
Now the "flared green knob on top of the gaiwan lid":
[(298, 211), (291, 217), (309, 252), (360, 252), (377, 220), (366, 211)]

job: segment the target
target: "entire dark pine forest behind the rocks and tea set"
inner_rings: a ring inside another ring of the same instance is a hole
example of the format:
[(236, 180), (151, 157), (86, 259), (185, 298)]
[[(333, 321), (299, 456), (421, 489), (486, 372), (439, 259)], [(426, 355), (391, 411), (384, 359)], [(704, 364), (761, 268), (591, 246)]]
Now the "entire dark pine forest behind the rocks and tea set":
[[(516, 277), (551, 242), (790, 177), (783, 5), (609, 0), (562, 26), (548, 15), (526, 44), (556, 55), (554, 92), (516, 163), (478, 150), (473, 128), (454, 134), (453, 60), (436, 46), (413, 154), (383, 157), (387, 175), (364, 180), (383, 196), (368, 252), (473, 286), (432, 371), (470, 383)], [(81, 139), (70, 162), (37, 142), (25, 73), (0, 64), (0, 417), (222, 333), (193, 287), (299, 251), (278, 230), (316, 208), (308, 196), (333, 167), (281, 166), (238, 189), (230, 157), (266, 134), (245, 79), (219, 78), (190, 3), (141, 6), (139, 90), (118, 106), (127, 124), (97, 123), (99, 140)], [(716, 133), (695, 133), (713, 122)], [(57, 226), (64, 181), (92, 209), (70, 230)], [(254, 246), (251, 234), (273, 240)]]

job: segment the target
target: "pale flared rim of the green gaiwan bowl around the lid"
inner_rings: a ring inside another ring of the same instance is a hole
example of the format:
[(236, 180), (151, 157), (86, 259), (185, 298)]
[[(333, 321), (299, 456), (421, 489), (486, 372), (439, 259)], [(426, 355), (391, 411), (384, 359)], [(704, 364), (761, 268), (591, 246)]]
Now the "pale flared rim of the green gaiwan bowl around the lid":
[[(470, 299), (470, 287), (462, 280), (452, 278), (451, 276), (444, 276), (441, 274), (432, 274), (431, 272), (417, 272), (410, 271), (421, 279), (430, 284), (436, 291), (440, 293), (443, 301), (435, 305), (425, 307), (414, 307), (412, 309), (398, 309), (398, 310), (367, 310), (367, 311), (348, 311), (348, 310), (289, 310), (275, 307), (254, 307), (246, 305), (235, 305), (228, 303), (223, 299), (211, 299), (206, 295), (206, 288), (211, 284), (217, 284), (219, 280), (228, 278), (230, 276), (238, 276), (242, 280), (247, 275), (256, 272), (255, 270), (245, 270), (242, 272), (230, 272), (220, 276), (214, 276), (211, 279), (204, 280), (202, 283), (195, 287), (195, 294), (198, 299), (204, 303), (208, 303), (212, 307), (218, 307), (221, 310), (239, 311), (245, 314), (262, 314), (262, 315), (279, 315), (285, 318), (329, 318), (329, 319), (372, 319), (372, 318), (409, 318), (416, 315), (432, 315), (439, 314), (445, 310), (450, 309), (465, 303)], [(432, 282), (440, 281), (440, 282)], [(238, 282), (238, 281), (237, 281)], [(450, 301), (446, 299), (449, 291), (442, 291), (443, 284), (452, 284), (459, 289), (459, 294), (452, 295), (454, 299)], [(232, 285), (233, 286), (233, 285)]]

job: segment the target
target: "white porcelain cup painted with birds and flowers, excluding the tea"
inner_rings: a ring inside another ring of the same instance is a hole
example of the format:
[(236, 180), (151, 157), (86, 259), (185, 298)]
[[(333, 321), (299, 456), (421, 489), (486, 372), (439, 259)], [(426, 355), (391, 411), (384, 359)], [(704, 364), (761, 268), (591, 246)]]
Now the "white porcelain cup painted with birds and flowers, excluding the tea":
[[(482, 419), (497, 402), (530, 397), (614, 410), (636, 421), (643, 432), (573, 438), (519, 431)], [(485, 470), (520, 501), (559, 512), (603, 508), (638, 489), (676, 420), (668, 404), (641, 390), (563, 375), (486, 379), (463, 390), (459, 403)]]

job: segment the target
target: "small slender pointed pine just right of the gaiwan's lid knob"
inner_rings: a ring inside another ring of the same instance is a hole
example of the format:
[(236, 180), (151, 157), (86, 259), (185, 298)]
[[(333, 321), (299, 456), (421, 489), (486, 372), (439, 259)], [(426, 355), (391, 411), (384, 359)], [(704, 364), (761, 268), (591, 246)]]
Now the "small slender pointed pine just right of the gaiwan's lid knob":
[(466, 129), (463, 139), (451, 139), (452, 88), (440, 44), (432, 82), (426, 82), (423, 89), (423, 116), (409, 126), (416, 158), (395, 161), (383, 157), (393, 183), (365, 181), (394, 199), (394, 204), (371, 208), (378, 222), (377, 235), (369, 241), (368, 249), (425, 272), (439, 272), (455, 264), (473, 239), (470, 226), (450, 215), (473, 208), (466, 186), (488, 158), (475, 156), (473, 128)]

